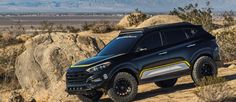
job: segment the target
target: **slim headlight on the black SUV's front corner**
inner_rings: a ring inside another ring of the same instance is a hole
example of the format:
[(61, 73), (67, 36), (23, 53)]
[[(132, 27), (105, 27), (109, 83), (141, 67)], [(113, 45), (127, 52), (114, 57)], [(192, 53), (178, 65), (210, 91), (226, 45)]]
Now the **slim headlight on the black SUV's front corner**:
[(110, 66), (111, 62), (104, 62), (104, 63), (101, 63), (99, 65), (96, 65), (96, 66), (93, 66), (91, 68), (88, 68), (86, 71), (88, 72), (96, 72), (96, 71), (99, 71), (99, 70), (102, 70), (102, 69), (105, 69), (107, 68), (108, 66)]

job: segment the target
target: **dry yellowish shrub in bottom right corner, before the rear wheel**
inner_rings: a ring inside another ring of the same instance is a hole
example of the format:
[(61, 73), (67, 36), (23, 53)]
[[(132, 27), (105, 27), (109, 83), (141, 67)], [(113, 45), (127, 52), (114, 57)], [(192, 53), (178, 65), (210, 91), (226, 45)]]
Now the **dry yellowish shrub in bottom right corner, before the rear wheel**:
[(234, 90), (225, 78), (207, 77), (202, 79), (194, 94), (203, 102), (225, 102), (234, 98)]

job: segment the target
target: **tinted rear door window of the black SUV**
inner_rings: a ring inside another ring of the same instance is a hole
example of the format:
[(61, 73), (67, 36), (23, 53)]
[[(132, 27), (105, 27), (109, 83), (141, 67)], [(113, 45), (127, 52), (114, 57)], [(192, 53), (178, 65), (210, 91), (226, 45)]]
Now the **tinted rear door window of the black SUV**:
[(162, 37), (165, 39), (165, 45), (173, 45), (183, 42), (187, 39), (182, 29), (170, 29), (161, 31)]

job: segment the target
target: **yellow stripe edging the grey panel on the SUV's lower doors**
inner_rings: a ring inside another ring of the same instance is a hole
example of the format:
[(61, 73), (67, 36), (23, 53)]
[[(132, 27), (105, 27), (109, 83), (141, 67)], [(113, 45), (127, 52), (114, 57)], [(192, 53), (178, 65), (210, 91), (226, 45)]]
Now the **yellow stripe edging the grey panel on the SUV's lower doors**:
[(143, 73), (144, 73), (145, 71), (150, 71), (150, 70), (154, 70), (154, 69), (161, 68), (161, 67), (167, 67), (167, 66), (174, 65), (174, 64), (179, 64), (179, 63), (182, 63), (182, 62), (185, 63), (185, 64), (187, 64), (188, 67), (191, 66), (190, 63), (189, 63), (188, 61), (178, 61), (178, 62), (173, 62), (173, 63), (169, 63), (169, 64), (161, 65), (161, 66), (156, 66), (156, 67), (152, 67), (152, 68), (144, 69), (144, 70), (141, 71), (139, 77), (141, 78), (141, 77), (143, 76)]

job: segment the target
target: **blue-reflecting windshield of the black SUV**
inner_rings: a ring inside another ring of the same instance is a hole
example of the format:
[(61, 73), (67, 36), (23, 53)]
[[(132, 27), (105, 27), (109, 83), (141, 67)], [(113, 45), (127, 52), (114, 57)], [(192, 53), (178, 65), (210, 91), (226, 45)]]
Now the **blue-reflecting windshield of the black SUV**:
[(98, 56), (127, 53), (140, 38), (141, 34), (123, 35), (112, 40), (99, 53)]

